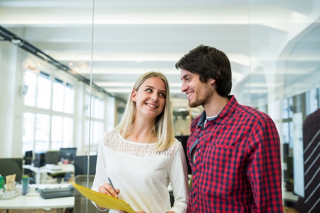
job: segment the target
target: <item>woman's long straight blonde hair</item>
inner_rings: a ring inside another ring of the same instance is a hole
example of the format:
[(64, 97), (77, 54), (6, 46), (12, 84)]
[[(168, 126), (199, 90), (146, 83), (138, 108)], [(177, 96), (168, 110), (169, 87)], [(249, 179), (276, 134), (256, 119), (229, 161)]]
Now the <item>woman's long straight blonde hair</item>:
[[(151, 139), (156, 138), (155, 150), (164, 151), (170, 148), (175, 140), (171, 118), (169, 83), (167, 78), (160, 72), (148, 72), (138, 78), (132, 90), (138, 90), (140, 85), (149, 78), (161, 78), (166, 84), (166, 104), (164, 110), (156, 117), (155, 124), (150, 132), (149, 141), (147, 141), (148, 143), (152, 143), (153, 141), (151, 141)], [(131, 96), (129, 96), (122, 119), (113, 131), (119, 131), (122, 136), (125, 137), (130, 125), (134, 121), (135, 110), (136, 103), (132, 101)]]

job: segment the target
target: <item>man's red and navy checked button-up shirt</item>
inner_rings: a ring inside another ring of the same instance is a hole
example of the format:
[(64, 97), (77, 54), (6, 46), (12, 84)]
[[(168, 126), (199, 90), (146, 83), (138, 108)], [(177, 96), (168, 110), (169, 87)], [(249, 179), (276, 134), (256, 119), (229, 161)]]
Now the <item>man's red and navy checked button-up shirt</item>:
[[(283, 212), (280, 139), (271, 118), (234, 96), (214, 119), (191, 124), (187, 212)], [(192, 160), (192, 151), (195, 160)]]

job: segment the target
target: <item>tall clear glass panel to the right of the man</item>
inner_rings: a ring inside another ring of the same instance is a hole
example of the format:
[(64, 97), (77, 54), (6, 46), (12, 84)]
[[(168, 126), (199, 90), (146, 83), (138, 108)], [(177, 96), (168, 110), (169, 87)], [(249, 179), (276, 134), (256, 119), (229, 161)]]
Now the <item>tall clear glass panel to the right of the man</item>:
[[(241, 88), (248, 92), (250, 105), (276, 122), (281, 138), (284, 205), (312, 212), (319, 209), (318, 196), (312, 196), (319, 194), (314, 189), (319, 182), (319, 155), (315, 154), (319, 153), (319, 127), (314, 120), (307, 126), (306, 120), (311, 113), (319, 118), (319, 5), (304, 1), (269, 7), (275, 10), (262, 21), (265, 5), (250, 1), (250, 75)], [(305, 134), (308, 128), (310, 135)], [(307, 203), (297, 204), (298, 196), (305, 197)]]

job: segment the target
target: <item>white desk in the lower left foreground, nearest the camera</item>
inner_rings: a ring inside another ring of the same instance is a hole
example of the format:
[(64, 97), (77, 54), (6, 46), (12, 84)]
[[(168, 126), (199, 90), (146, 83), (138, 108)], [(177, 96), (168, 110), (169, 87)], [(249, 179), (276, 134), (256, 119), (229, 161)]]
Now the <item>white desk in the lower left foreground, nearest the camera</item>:
[[(47, 187), (67, 187), (69, 184), (32, 184), (37, 188)], [(32, 195), (18, 195), (13, 199), (0, 199), (0, 209), (37, 209), (37, 208), (57, 208), (57, 212), (62, 212), (63, 208), (74, 207), (75, 197), (43, 199), (39, 193)]]

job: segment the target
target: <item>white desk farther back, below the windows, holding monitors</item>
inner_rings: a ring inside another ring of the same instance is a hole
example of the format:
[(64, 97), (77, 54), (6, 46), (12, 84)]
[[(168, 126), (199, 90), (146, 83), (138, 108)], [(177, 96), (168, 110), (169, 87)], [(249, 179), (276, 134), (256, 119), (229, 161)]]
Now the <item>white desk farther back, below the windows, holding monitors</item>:
[(24, 169), (28, 169), (31, 170), (32, 172), (35, 173), (36, 175), (36, 184), (40, 184), (41, 183), (41, 173), (50, 173), (50, 174), (55, 174), (55, 173), (74, 173), (75, 172), (75, 167), (73, 164), (60, 164), (57, 165), (57, 167), (55, 169), (49, 168), (49, 167), (34, 167), (34, 165), (30, 164), (26, 164), (26, 165), (22, 165), (22, 168)]

